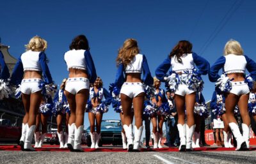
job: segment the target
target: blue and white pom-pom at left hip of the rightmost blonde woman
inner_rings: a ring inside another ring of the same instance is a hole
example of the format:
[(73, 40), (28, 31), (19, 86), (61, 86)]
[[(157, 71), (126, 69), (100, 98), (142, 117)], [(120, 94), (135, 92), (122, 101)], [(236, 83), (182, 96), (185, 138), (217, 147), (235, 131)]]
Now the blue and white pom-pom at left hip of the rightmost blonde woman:
[(218, 78), (216, 84), (215, 84), (215, 91), (217, 94), (226, 93), (231, 91), (232, 84), (231, 81), (233, 79), (229, 79), (227, 75), (222, 74), (220, 78)]

